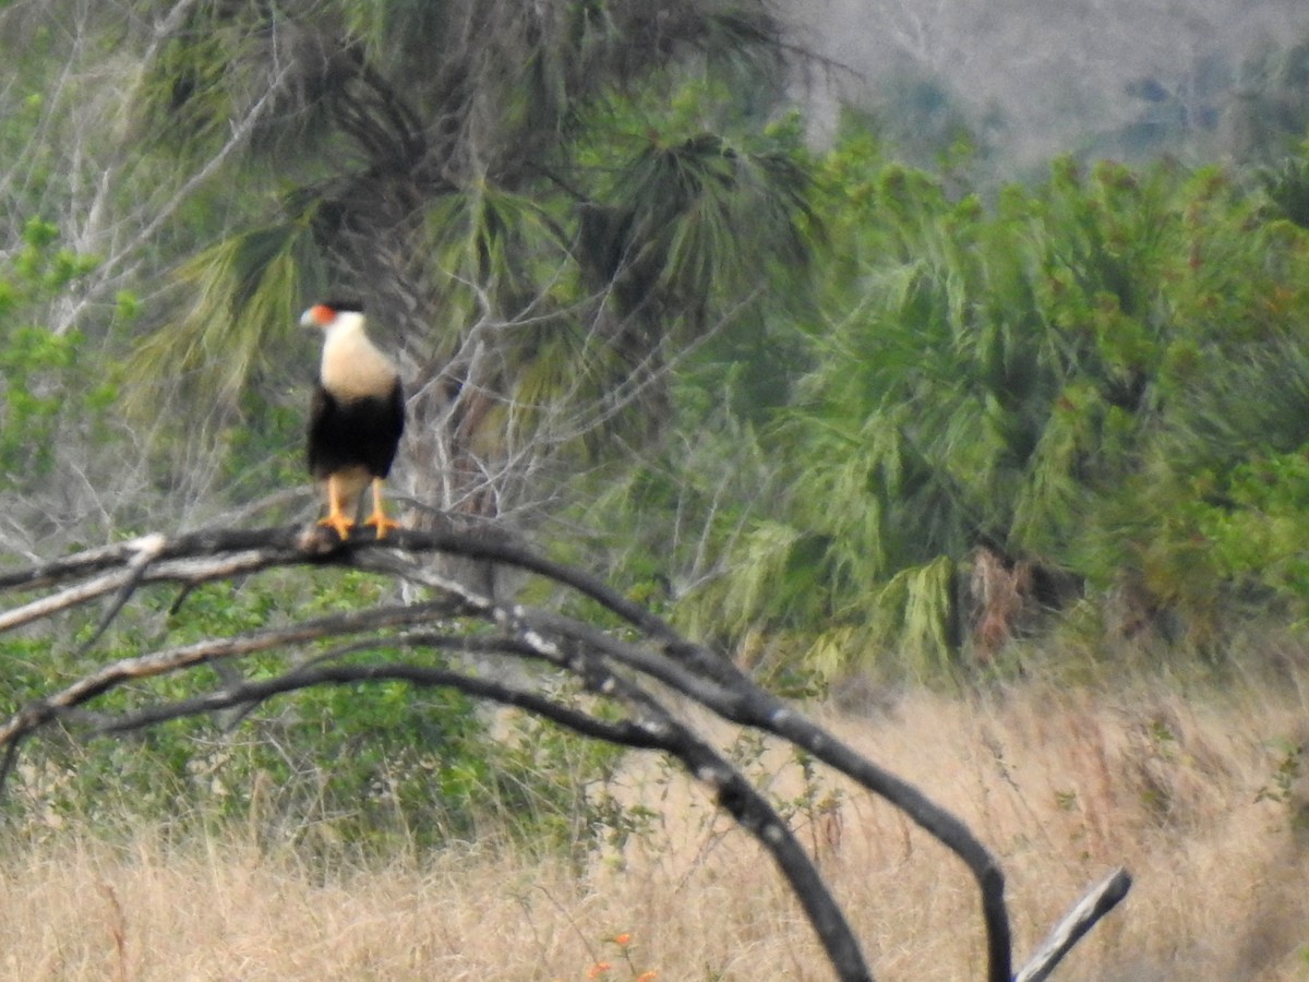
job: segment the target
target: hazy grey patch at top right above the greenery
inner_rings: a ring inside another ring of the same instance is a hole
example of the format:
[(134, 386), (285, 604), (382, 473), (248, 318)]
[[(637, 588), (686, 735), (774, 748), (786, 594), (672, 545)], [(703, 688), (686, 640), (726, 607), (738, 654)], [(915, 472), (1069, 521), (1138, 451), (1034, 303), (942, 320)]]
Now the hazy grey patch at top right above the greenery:
[[(997, 110), (1020, 158), (1139, 118), (1143, 89), (1207, 111), (1216, 80), (1238, 82), (1261, 45), (1309, 39), (1309, 0), (793, 0), (792, 9), (808, 43), (852, 69), (833, 76), (846, 96), (868, 98), (894, 73), (942, 79), (974, 117)], [(830, 113), (830, 85), (814, 89)]]

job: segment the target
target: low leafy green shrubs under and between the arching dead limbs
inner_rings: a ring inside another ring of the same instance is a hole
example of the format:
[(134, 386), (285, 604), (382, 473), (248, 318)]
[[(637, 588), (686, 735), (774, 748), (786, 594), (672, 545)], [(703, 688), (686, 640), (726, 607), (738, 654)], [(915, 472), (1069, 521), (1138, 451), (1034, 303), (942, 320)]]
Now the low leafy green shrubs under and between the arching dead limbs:
[[(173, 598), (154, 594), (151, 609), (124, 613), (120, 632), (96, 661), (139, 653), (135, 638), (186, 644), (276, 626), (289, 611), (372, 606), (386, 589), (386, 580), (364, 573), (278, 575), (240, 588), (198, 588), (173, 613)], [(85, 634), (73, 627), (75, 638)], [(230, 670), (268, 678), (322, 653), (272, 652), (233, 663)], [(0, 715), (29, 693), (90, 668), (46, 639), (7, 639), (0, 655), (12, 682)], [(439, 652), (399, 647), (338, 657), (446, 664)], [(115, 690), (96, 710), (131, 711), (223, 683), (217, 673), (202, 676)], [(262, 835), (312, 850), (425, 848), (508, 835), (542, 851), (585, 852), (607, 833), (605, 788), (620, 757), (617, 748), (517, 712), (492, 715), (453, 690), (394, 682), (331, 686), (249, 715), (178, 720), (140, 736), (30, 744), (8, 810), (33, 835), (73, 818), (106, 825), (164, 820), (179, 829), (240, 820)]]

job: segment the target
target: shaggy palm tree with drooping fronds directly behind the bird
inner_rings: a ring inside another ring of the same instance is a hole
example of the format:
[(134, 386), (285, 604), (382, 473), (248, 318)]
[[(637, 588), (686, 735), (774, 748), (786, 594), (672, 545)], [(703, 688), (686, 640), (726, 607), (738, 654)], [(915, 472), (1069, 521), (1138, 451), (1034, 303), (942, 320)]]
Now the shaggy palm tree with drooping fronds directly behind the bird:
[[(656, 13), (188, 12), (144, 71), (152, 147), (190, 160), (251, 135), (224, 162), (233, 217), (178, 267), (182, 310), (137, 348), (140, 399), (182, 395), (188, 426), (213, 397), (230, 410), (296, 299), (334, 283), (395, 331), (415, 391), (458, 386), (457, 432), (428, 436), (490, 458), (511, 505), (520, 475), (497, 458), (657, 432), (670, 354), (728, 321), (745, 335), (742, 312), (805, 268), (816, 223), (798, 119), (764, 122), (778, 22), (753, 0)], [(276, 47), (281, 31), (300, 42)]]

